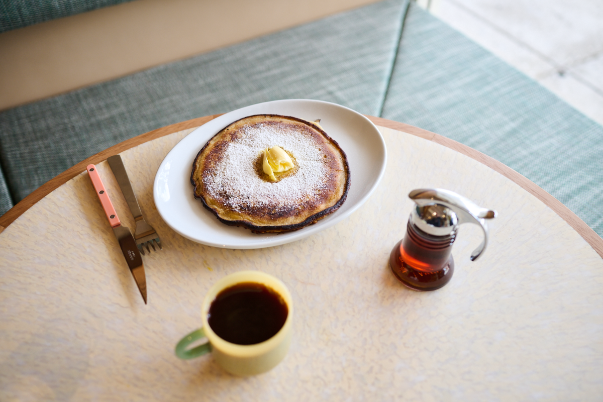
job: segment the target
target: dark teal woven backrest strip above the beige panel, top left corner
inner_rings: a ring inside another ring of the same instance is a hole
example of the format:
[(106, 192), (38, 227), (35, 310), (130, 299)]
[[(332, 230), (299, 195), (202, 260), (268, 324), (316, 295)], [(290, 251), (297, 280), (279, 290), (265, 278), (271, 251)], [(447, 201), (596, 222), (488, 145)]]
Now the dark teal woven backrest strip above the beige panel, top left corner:
[(0, 33), (131, 0), (0, 0)]

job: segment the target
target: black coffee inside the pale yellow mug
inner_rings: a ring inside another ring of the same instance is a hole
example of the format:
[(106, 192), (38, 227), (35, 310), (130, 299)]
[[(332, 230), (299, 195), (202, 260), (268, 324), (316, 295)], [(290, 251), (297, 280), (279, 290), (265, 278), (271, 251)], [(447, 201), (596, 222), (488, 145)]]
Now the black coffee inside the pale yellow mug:
[(285, 324), (285, 300), (260, 283), (244, 282), (219, 292), (207, 313), (212, 330), (225, 341), (253, 345), (272, 338)]

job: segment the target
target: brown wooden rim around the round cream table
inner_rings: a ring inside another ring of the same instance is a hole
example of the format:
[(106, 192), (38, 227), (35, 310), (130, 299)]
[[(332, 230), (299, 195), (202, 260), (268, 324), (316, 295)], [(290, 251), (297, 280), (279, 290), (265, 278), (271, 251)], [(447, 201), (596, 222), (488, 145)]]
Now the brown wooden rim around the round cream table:
[[(34, 190), (32, 193), (30, 193), (30, 195), (26, 196), (19, 203), (17, 203), (16, 206), (8, 210), (7, 213), (0, 216), (0, 233), (2, 233), (2, 231), (7, 228), (8, 225), (14, 222), (15, 219), (19, 218), (22, 213), (40, 201), (40, 199), (44, 198), (53, 190), (57, 189), (59, 186), (62, 186), (62, 184), (65, 184), (67, 181), (71, 180), (81, 172), (85, 171), (86, 166), (90, 165), (90, 163), (100, 163), (111, 155), (119, 154), (120, 152), (124, 152), (127, 149), (133, 148), (134, 146), (142, 143), (157, 139), (159, 137), (167, 136), (172, 133), (177, 133), (178, 131), (186, 130), (188, 128), (199, 127), (218, 116), (221, 115), (204, 116), (202, 118), (191, 119), (188, 121), (168, 125), (166, 127), (157, 128), (156, 130), (149, 131), (148, 133), (140, 134), (139, 136), (125, 140), (124, 142), (120, 142), (117, 145), (105, 149), (104, 151), (98, 152), (98, 154), (84, 159), (80, 163), (77, 163), (77, 165), (67, 169), (62, 174), (59, 174), (47, 181), (45, 184), (42, 184), (42, 186)], [(504, 177), (507, 177), (518, 186), (522, 187), (527, 192), (531, 193), (536, 198), (540, 199), (540, 201), (545, 203), (546, 206), (551, 208), (555, 213), (557, 213), (557, 215), (566, 221), (567, 224), (573, 228), (573, 230), (577, 231), (578, 234), (582, 236), (582, 238), (586, 240), (586, 242), (589, 243), (589, 245), (599, 254), (599, 256), (603, 258), (603, 239), (599, 237), (599, 235), (596, 234), (596, 232), (589, 225), (582, 221), (582, 219), (578, 218), (575, 213), (564, 206), (564, 204), (561, 203), (557, 198), (543, 190), (541, 187), (537, 186), (537, 184), (528, 178), (509, 168), (507, 165), (504, 165), (504, 163), (501, 163), (496, 159), (489, 157), (488, 155), (482, 154), (482, 152), (470, 148), (467, 145), (463, 145), (455, 140), (441, 136), (440, 134), (432, 133), (431, 131), (423, 130), (422, 128), (384, 118), (374, 116), (366, 117), (376, 125), (391, 128), (393, 130), (403, 131), (440, 145), (444, 145), (447, 148), (460, 152), (463, 155), (477, 160), (478, 162), (482, 163), (482, 165), (488, 166), (488, 168), (499, 172)]]

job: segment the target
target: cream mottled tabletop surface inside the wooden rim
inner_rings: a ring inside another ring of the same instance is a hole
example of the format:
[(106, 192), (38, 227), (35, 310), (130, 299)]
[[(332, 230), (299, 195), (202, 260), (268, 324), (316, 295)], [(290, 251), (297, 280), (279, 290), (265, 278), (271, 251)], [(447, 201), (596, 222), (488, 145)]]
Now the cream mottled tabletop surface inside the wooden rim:
[[(349, 218), (259, 250), (191, 242), (154, 209), (163, 157), (191, 130), (122, 152), (163, 251), (144, 256), (145, 306), (87, 173), (0, 233), (0, 400), (595, 400), (603, 392), (603, 259), (553, 210), (466, 155), (379, 127), (385, 176)], [(98, 171), (127, 211), (106, 162)], [(135, 179), (134, 179), (135, 178)], [(353, 180), (353, 178), (352, 178)], [(488, 249), (463, 225), (455, 274), (415, 292), (388, 268), (408, 192), (442, 187), (496, 209)], [(201, 207), (201, 205), (200, 205)], [(122, 220), (134, 227), (131, 217)], [(288, 355), (238, 378), (210, 356), (179, 360), (218, 278), (257, 269), (295, 303)]]

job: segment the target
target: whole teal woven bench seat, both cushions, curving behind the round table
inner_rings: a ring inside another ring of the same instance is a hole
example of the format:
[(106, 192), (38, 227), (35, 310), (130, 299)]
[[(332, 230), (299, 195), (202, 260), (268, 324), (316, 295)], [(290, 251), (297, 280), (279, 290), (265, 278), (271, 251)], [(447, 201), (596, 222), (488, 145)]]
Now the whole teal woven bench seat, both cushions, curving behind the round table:
[(0, 113), (0, 214), (75, 163), (199, 116), (336, 102), (494, 157), (603, 234), (603, 127), (408, 0), (386, 0)]

